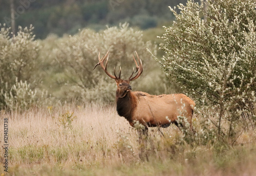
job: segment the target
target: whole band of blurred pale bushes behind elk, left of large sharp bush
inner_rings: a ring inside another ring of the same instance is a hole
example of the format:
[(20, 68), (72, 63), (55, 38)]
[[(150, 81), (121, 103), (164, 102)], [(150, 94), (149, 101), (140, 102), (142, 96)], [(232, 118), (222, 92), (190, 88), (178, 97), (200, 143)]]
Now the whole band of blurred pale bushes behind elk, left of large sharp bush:
[[(52, 102), (65, 103), (71, 100), (81, 102), (112, 103), (115, 98), (115, 82), (104, 74), (101, 68), (92, 68), (98, 62), (98, 54), (102, 57), (110, 50), (109, 71), (113, 67), (122, 66), (122, 78), (127, 79), (132, 73), (135, 63), (134, 51), (142, 59), (144, 72), (132, 83), (134, 90), (146, 91), (151, 94), (173, 92), (174, 87), (162, 81), (163, 74), (146, 48), (156, 52), (156, 45), (147, 41), (155, 35), (143, 36), (142, 31), (129, 28), (127, 23), (118, 27), (107, 28), (101, 32), (84, 29), (74, 36), (61, 38), (52, 34), (45, 40), (34, 40), (31, 29), (22, 29), (18, 36), (11, 37), (9, 28), (1, 29), (1, 109), (28, 109), (33, 106), (51, 106)], [(14, 45), (14, 38), (15, 43)], [(147, 42), (146, 42), (147, 41)], [(14, 57), (13, 57), (14, 56)], [(136, 57), (136, 56), (135, 56)], [(140, 84), (137, 84), (139, 81)], [(25, 87), (14, 91), (17, 84), (29, 85), (28, 91), (36, 92), (30, 100)], [(161, 86), (160, 86), (161, 85)], [(15, 93), (19, 92), (16, 96)], [(24, 92), (23, 95), (20, 93)], [(27, 102), (26, 108), (18, 107), (20, 98)], [(7, 103), (8, 102), (8, 103)], [(31, 102), (31, 103), (29, 103)], [(8, 104), (8, 105), (7, 105)]]

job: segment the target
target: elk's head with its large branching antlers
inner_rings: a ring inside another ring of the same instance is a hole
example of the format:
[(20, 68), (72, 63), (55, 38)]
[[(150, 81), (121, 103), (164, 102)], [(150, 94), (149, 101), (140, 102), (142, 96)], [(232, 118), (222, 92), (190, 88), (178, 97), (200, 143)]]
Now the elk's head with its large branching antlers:
[[(105, 73), (112, 79), (114, 79), (116, 81), (116, 85), (117, 85), (117, 94), (116, 96), (118, 98), (123, 98), (126, 96), (126, 94), (128, 92), (130, 92), (132, 90), (132, 87), (130, 86), (130, 81), (133, 81), (133, 80), (136, 80), (137, 78), (140, 77), (142, 71), (143, 71), (143, 68), (142, 68), (142, 62), (137, 54), (137, 52), (135, 52), (136, 55), (137, 55), (137, 58), (138, 58), (138, 62), (139, 62), (139, 65), (138, 63), (136, 62), (134, 56), (133, 56), (133, 59), (135, 61), (135, 64), (136, 64), (136, 71), (135, 73), (137, 73), (134, 77), (133, 77), (133, 74), (134, 74), (134, 68), (133, 68), (133, 72), (131, 74), (131, 76), (129, 77), (128, 80), (122, 80), (120, 77), (121, 77), (121, 67), (120, 67), (120, 72), (119, 72), (119, 76), (117, 77), (116, 76), (116, 72), (115, 72), (115, 67), (114, 67), (114, 76), (112, 74), (110, 74), (107, 70), (106, 70), (106, 67), (108, 66), (108, 60), (109, 60), (109, 52), (106, 53), (106, 55), (104, 57), (102, 57), (100, 59), (100, 53), (99, 53), (99, 62), (95, 65), (95, 67), (93, 69), (96, 68), (96, 66), (100, 65), (101, 68), (105, 71)], [(106, 63), (104, 65), (104, 61), (106, 59)]]

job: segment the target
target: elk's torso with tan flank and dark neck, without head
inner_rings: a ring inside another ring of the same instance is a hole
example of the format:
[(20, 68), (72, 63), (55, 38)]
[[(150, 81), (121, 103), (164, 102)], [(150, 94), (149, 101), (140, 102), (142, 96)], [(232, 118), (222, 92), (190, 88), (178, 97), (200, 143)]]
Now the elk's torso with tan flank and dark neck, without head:
[(118, 114), (132, 126), (139, 121), (146, 127), (168, 127), (171, 122), (176, 123), (178, 116), (185, 116), (191, 125), (195, 107), (195, 102), (184, 94), (151, 95), (129, 91), (125, 97), (116, 100)]

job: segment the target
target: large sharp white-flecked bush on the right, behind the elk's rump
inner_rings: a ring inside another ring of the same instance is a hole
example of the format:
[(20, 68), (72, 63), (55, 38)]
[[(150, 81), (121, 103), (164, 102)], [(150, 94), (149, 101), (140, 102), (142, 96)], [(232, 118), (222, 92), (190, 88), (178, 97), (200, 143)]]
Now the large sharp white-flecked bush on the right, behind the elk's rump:
[[(170, 8), (176, 21), (164, 27), (165, 43), (160, 48), (167, 57), (158, 61), (168, 78), (196, 99), (204, 118), (216, 112), (219, 118), (212, 122), (218, 134), (236, 139), (234, 124), (242, 122), (238, 121), (241, 115), (251, 119), (256, 113), (256, 4), (206, 2), (207, 8), (203, 1), (181, 4), (179, 14)], [(225, 120), (229, 121), (227, 132), (223, 131)]]

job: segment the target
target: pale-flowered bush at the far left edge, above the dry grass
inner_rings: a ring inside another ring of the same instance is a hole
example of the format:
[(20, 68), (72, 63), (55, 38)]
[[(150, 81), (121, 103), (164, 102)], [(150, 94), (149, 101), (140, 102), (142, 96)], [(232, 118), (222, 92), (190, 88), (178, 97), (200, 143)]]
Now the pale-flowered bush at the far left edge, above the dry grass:
[(34, 39), (33, 29), (32, 26), (18, 27), (17, 34), (13, 35), (5, 25), (1, 28), (0, 110), (26, 110), (51, 102), (48, 92), (38, 86), (40, 45)]

